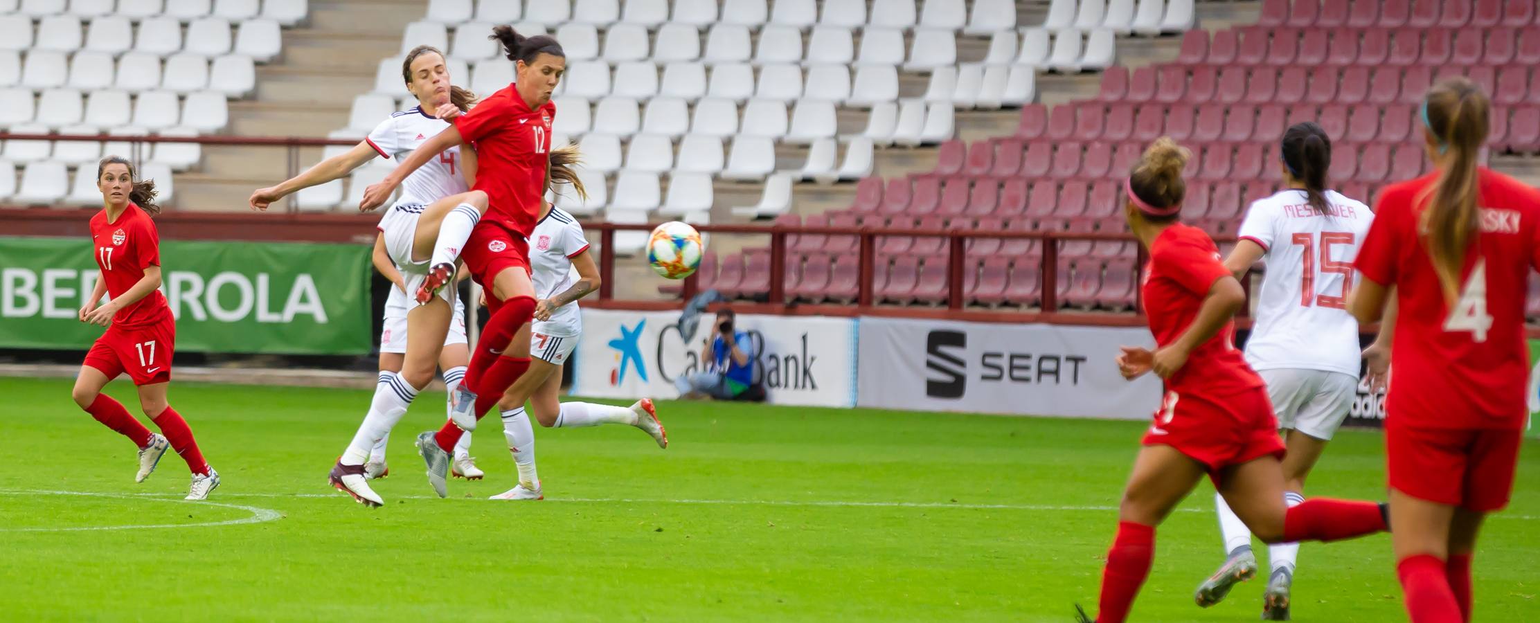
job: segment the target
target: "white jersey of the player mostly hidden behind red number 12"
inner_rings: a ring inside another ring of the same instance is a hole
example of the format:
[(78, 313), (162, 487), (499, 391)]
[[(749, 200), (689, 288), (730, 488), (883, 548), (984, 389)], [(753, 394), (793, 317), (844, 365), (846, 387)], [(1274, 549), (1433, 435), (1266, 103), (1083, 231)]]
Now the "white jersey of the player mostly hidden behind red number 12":
[[(578, 283), (578, 271), (573, 268), (573, 257), (588, 249), (588, 238), (582, 235), (582, 225), (567, 211), (551, 206), (550, 214), (534, 225), (530, 235), (530, 268), (534, 274), (534, 295), (541, 300), (551, 298)], [(582, 332), (582, 314), (578, 303), (567, 303), (551, 314), (551, 320), (536, 323), (536, 332), (545, 335), (578, 335)]]

